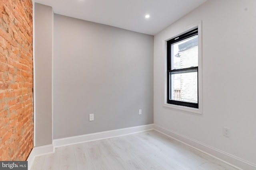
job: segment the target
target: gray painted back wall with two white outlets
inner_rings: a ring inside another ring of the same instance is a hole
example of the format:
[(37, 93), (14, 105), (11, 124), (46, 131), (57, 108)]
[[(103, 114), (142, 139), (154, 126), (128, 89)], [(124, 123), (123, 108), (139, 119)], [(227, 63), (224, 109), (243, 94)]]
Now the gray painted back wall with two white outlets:
[(54, 14), (54, 139), (153, 123), (153, 41)]

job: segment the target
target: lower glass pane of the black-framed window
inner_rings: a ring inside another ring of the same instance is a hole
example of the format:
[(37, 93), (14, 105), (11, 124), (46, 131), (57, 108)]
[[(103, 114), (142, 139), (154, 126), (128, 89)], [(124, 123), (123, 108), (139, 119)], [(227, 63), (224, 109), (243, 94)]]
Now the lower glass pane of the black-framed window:
[(170, 100), (198, 103), (197, 72), (170, 73)]

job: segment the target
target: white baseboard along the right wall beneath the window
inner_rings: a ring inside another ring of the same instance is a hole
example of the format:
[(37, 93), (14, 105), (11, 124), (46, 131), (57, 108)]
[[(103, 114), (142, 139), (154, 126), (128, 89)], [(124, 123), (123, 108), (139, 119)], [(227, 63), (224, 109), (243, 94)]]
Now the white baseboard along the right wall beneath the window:
[(234, 168), (237, 168), (238, 170), (256, 170), (256, 164), (223, 152), (222, 150), (216, 149), (209, 145), (205, 145), (204, 143), (201, 143), (194, 139), (190, 139), (184, 135), (178, 134), (164, 127), (160, 127), (159, 125), (154, 124), (154, 130), (163, 133), (164, 135), (167, 135), (172, 139), (180, 141), (181, 143), (184, 143), (185, 145), (188, 145), (196, 150), (199, 150), (200, 152), (208, 154), (230, 166), (233, 166)]

